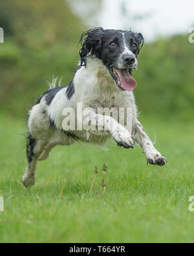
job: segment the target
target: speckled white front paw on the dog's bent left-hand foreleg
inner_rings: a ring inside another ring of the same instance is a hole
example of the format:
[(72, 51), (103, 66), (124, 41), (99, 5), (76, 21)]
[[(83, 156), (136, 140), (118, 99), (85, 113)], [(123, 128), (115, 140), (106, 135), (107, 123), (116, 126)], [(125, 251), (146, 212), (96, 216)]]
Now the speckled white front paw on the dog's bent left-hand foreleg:
[(134, 148), (135, 144), (131, 138), (131, 134), (125, 130), (115, 130), (113, 131), (113, 138), (118, 146), (124, 146), (124, 148)]

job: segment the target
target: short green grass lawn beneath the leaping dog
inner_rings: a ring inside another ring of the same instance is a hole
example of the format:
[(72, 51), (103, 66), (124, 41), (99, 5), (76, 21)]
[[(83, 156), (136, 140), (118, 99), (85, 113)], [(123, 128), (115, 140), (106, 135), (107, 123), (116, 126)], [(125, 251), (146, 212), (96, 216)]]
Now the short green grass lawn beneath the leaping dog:
[[(0, 242), (193, 242), (193, 124), (140, 118), (168, 165), (146, 165), (140, 147), (103, 152), (58, 146), (25, 189), (25, 121), (1, 115)], [(89, 194), (94, 167), (109, 167)]]

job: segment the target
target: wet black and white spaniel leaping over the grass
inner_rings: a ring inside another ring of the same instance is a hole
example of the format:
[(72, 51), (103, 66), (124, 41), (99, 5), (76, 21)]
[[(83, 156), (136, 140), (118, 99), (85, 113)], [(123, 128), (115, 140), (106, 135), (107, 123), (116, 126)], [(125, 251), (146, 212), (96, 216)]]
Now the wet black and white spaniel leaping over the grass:
[[(35, 183), (37, 161), (47, 159), (54, 146), (71, 145), (78, 140), (103, 145), (113, 137), (118, 146), (124, 148), (134, 148), (136, 142), (142, 146), (148, 163), (160, 166), (167, 163), (137, 119), (133, 96), (136, 81), (132, 71), (138, 67), (136, 57), (144, 44), (142, 34), (96, 28), (83, 33), (80, 41), (83, 42), (80, 62), (72, 82), (69, 86), (54, 87), (44, 93), (29, 113), (28, 167), (23, 176), (26, 187)], [(86, 110), (89, 129), (83, 129), (78, 103)], [(75, 129), (67, 130), (63, 126), (65, 108), (76, 113), (72, 115), (77, 123)], [(113, 115), (96, 113), (98, 108), (130, 108), (131, 128), (125, 128)], [(102, 129), (96, 132), (92, 129), (96, 126)]]

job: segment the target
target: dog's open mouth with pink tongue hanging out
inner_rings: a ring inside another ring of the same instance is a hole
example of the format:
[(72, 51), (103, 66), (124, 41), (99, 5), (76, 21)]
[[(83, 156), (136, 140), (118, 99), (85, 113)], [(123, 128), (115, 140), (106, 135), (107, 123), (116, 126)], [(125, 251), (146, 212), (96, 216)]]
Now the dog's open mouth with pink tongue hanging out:
[(114, 67), (110, 73), (116, 82), (116, 86), (124, 91), (133, 91), (137, 84), (136, 80), (131, 76), (132, 69), (118, 69)]

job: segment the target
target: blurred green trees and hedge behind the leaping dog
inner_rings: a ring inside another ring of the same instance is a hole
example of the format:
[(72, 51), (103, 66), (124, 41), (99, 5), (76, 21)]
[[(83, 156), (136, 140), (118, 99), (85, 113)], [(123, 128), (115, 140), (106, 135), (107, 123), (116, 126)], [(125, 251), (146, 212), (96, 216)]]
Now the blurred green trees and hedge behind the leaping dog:
[[(43, 0), (4, 1), (0, 25), (5, 30), (5, 43), (0, 44), (0, 108), (25, 117), (52, 76), (69, 83), (78, 63), (78, 40), (88, 27), (63, 0), (48, 0), (47, 5)], [(194, 51), (188, 34), (146, 44), (139, 62), (135, 72), (139, 110), (191, 118)]]

